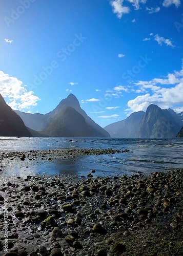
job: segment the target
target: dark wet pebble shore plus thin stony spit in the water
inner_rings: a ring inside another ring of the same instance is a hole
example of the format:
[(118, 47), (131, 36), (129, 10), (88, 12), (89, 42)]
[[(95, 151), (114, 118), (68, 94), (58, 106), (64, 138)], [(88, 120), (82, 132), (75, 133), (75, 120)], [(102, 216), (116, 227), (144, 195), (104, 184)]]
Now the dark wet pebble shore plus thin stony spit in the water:
[[(75, 156), (73, 150), (66, 151), (67, 156), (68, 151)], [(50, 152), (50, 158), (59, 155)], [(21, 159), (24, 154), (25, 158), (36, 154), (42, 158), (46, 153), (8, 153), (8, 157)], [(149, 177), (137, 174), (105, 178), (96, 177), (92, 170), (89, 176), (75, 183), (62, 176), (16, 177), (2, 182), (0, 254), (183, 254), (182, 169)]]

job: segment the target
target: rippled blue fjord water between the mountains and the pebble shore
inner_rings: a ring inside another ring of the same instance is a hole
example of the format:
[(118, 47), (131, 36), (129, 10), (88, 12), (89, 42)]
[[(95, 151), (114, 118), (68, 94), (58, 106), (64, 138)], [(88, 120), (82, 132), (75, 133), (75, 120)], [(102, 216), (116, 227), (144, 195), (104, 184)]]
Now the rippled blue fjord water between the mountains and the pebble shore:
[[(69, 141), (72, 139), (72, 141)], [(183, 140), (139, 138), (15, 138), (0, 137), (0, 152), (53, 150), (57, 148), (113, 148), (128, 153), (79, 156), (74, 159), (55, 159), (53, 162), (23, 163), (6, 161), (6, 175), (84, 175), (92, 169), (97, 176), (115, 176), (142, 172), (162, 172), (183, 168)], [(56, 157), (56, 156), (55, 156)], [(22, 162), (22, 161), (21, 161)], [(31, 161), (32, 162), (32, 161)]]

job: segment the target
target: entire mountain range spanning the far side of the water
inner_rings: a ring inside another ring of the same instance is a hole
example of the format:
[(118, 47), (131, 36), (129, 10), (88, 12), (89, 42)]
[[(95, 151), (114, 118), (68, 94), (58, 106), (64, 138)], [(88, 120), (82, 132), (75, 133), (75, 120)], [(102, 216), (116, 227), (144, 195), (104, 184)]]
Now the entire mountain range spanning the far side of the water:
[(183, 112), (151, 104), (146, 112), (134, 112), (103, 129), (80, 108), (73, 94), (45, 115), (13, 111), (0, 94), (0, 136), (174, 138), (182, 124)]

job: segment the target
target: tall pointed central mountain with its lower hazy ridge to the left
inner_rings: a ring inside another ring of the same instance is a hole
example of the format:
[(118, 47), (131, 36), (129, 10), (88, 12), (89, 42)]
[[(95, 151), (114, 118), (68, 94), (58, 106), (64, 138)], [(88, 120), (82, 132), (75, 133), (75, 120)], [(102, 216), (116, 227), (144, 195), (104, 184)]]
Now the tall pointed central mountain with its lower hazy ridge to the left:
[[(80, 108), (80, 104), (73, 94), (70, 94), (66, 99), (60, 101), (53, 111), (45, 115), (39, 113), (30, 114), (20, 111), (15, 111), (15, 113), (23, 119), (27, 127), (48, 136), (110, 137), (107, 131), (95, 123), (85, 111)], [(76, 117), (78, 119), (76, 119)], [(68, 118), (70, 118), (70, 121)], [(75, 123), (73, 120), (75, 120)], [(71, 127), (71, 125), (73, 127)], [(79, 132), (79, 129), (83, 132)]]

